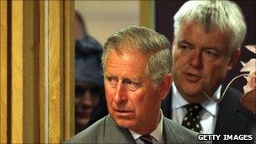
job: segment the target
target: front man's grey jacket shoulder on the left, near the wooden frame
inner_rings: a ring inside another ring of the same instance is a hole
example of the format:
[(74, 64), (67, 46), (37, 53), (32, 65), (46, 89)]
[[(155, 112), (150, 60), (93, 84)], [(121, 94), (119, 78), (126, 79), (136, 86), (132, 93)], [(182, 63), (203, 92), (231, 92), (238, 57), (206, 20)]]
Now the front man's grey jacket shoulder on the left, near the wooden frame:
[(107, 116), (98, 120), (93, 125), (89, 126), (87, 129), (79, 132), (77, 135), (72, 136), (69, 140), (65, 141), (65, 143), (96, 143), (98, 141), (98, 136), (102, 133), (107, 120)]

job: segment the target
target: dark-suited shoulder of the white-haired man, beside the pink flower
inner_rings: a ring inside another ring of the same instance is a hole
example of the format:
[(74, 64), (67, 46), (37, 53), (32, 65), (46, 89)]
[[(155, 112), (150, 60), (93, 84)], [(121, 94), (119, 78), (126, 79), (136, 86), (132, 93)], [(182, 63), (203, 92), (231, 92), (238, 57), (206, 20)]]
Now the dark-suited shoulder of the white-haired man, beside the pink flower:
[(256, 117), (240, 103), (242, 93), (235, 88), (227, 88), (219, 109), (216, 121), (216, 133), (252, 133), (256, 129)]

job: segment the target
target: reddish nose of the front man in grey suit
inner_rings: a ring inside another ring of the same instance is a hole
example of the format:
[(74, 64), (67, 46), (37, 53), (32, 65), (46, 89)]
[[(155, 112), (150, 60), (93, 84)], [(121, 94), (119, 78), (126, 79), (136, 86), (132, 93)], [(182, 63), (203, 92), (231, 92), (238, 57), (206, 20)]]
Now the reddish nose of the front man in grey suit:
[(114, 101), (116, 104), (120, 104), (126, 100), (125, 95), (125, 85), (123, 83), (118, 83), (115, 90)]

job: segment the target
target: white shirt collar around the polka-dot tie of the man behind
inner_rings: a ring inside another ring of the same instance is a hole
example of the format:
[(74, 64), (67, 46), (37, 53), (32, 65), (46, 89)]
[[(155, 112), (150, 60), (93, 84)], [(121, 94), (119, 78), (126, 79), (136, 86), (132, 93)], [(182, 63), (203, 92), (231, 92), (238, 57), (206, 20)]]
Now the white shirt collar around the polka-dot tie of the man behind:
[[(189, 102), (187, 102), (179, 93), (178, 89), (175, 86), (175, 83), (172, 83), (172, 99), (173, 99), (173, 103), (172, 103), (172, 109), (179, 109), (181, 107), (183, 107), (186, 104), (189, 104)], [(216, 93), (214, 93), (214, 95), (211, 97), (211, 99), (214, 99), (215, 101), (217, 99), (220, 99), (221, 97), (221, 85), (219, 86), (219, 88), (217, 88)], [(202, 107), (208, 111), (209, 113), (211, 113), (211, 115), (216, 115), (217, 113), (217, 104), (216, 102), (209, 100), (206, 100), (204, 103), (201, 104)]]

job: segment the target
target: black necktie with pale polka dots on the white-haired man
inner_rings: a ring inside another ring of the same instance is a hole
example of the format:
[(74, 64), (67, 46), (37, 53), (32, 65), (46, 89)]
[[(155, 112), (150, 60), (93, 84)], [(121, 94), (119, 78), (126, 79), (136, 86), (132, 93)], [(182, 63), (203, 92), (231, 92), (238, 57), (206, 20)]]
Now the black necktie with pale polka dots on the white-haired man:
[(202, 126), (200, 125), (199, 113), (202, 110), (200, 104), (187, 104), (187, 114), (184, 116), (182, 125), (189, 128), (190, 130), (201, 132)]

